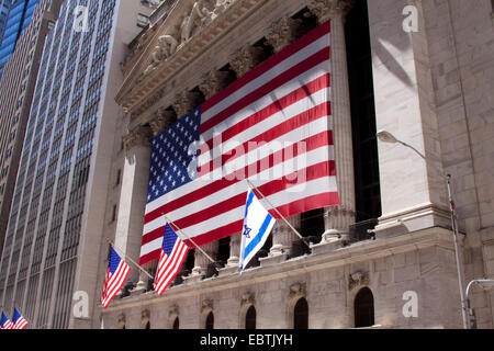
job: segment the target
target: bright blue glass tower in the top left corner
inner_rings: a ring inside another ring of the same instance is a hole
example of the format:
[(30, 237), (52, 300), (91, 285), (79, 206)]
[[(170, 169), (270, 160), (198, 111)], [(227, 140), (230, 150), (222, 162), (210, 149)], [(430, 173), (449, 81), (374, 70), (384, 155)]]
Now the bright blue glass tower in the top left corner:
[[(36, 8), (40, 0), (13, 1), (9, 10), (4, 11), (4, 9), (7, 10), (7, 4), (9, 2), (11, 2), (11, 0), (4, 0), (4, 3), (2, 3), (1, 7), (1, 16), (4, 16), (4, 31), (3, 35), (0, 35), (0, 77), (3, 72), (3, 66), (12, 55), (19, 37), (30, 24), (31, 19), (33, 18), (34, 9)], [(0, 33), (1, 29), (2, 26), (0, 23)]]

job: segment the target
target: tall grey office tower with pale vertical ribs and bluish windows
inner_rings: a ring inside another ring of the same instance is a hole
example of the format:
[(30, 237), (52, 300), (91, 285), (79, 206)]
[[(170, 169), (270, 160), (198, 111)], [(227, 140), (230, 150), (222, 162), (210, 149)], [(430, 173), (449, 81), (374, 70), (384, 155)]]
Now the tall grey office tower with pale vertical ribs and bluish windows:
[[(87, 9), (88, 31), (74, 29), (78, 5)], [(7, 314), (22, 310), (29, 328), (69, 327), (78, 270), (87, 270), (86, 233), (96, 235), (85, 227), (100, 220), (96, 197), (108, 188), (101, 182), (110, 160), (98, 156), (111, 155), (120, 63), (124, 44), (141, 31), (141, 8), (130, 0), (65, 0), (46, 36), (0, 264), (0, 305)], [(97, 275), (87, 282), (96, 286)]]

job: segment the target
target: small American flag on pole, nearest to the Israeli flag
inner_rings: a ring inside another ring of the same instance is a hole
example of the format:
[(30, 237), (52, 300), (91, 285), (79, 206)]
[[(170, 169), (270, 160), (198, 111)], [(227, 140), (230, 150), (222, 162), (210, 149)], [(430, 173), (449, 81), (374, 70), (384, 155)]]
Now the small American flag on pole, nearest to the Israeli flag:
[(167, 224), (155, 279), (155, 291), (159, 295), (167, 290), (168, 285), (177, 276), (188, 251), (189, 247), (180, 240), (175, 230)]

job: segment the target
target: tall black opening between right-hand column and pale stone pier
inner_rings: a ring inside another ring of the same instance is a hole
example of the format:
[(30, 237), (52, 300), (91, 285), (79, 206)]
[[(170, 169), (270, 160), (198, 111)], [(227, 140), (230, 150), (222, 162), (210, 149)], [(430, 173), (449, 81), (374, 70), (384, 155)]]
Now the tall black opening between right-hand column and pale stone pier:
[[(345, 23), (356, 190), (356, 223), (381, 216), (372, 55), (367, 1), (357, 1)], [(374, 222), (362, 230), (371, 229)], [(351, 236), (351, 234), (350, 234)], [(368, 238), (364, 236), (364, 238)]]

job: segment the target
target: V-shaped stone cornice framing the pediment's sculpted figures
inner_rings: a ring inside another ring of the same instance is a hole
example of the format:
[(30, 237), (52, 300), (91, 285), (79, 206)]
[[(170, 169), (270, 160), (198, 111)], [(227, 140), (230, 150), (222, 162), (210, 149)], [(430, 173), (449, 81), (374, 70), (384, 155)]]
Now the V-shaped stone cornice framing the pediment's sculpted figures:
[(169, 55), (166, 59), (157, 59), (155, 61), (156, 66), (149, 69), (147, 76), (143, 76), (143, 72), (147, 69), (145, 66), (153, 60), (153, 54), (158, 45), (158, 37), (167, 33), (173, 33), (175, 37), (177, 37), (177, 21), (183, 18), (183, 13), (189, 13), (188, 5), (191, 7), (193, 1), (180, 1), (177, 4), (165, 20), (161, 29), (156, 31), (145, 54), (132, 69), (115, 97), (115, 101), (124, 111), (130, 112), (132, 115), (138, 115), (154, 105), (167, 91), (167, 81), (170, 78), (204, 52), (221, 34), (226, 34), (227, 29), (235, 25), (249, 10), (265, 3), (263, 0), (231, 0), (229, 2), (224, 2), (226, 4), (222, 9), (223, 12), (221, 14), (216, 14), (210, 23), (204, 24), (200, 29), (199, 33), (184, 43), (179, 44), (172, 55)]

